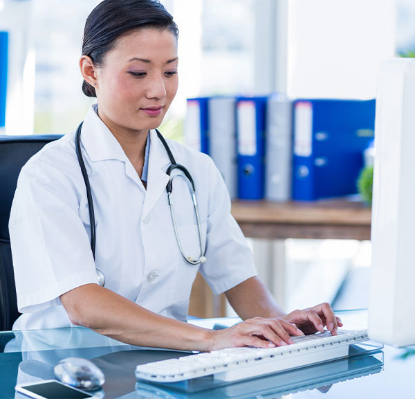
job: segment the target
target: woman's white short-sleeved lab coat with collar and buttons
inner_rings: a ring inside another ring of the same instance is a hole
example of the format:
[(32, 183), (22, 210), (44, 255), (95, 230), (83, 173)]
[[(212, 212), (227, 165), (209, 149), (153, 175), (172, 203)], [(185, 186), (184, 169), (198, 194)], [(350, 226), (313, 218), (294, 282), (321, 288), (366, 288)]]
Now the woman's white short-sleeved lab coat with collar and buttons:
[[(150, 133), (147, 190), (120, 144), (91, 107), (82, 127), (82, 154), (91, 181), (96, 224), (90, 247), (86, 189), (75, 133), (49, 143), (21, 170), (10, 215), (17, 303), (15, 329), (71, 326), (59, 296), (96, 283), (158, 314), (187, 319), (198, 266), (183, 260), (167, 202), (170, 164)], [(255, 276), (252, 251), (230, 214), (230, 199), (212, 159), (167, 140), (194, 179), (205, 256), (200, 267), (215, 294)], [(200, 256), (193, 204), (185, 179), (173, 184), (176, 224), (186, 255)]]

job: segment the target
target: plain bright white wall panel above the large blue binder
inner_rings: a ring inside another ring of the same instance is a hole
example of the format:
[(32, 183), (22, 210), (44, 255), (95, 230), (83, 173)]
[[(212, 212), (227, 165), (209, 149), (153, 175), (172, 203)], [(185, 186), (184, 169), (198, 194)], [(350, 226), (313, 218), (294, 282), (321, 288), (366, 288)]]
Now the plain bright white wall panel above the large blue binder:
[(374, 98), (395, 15), (394, 0), (288, 1), (288, 95)]

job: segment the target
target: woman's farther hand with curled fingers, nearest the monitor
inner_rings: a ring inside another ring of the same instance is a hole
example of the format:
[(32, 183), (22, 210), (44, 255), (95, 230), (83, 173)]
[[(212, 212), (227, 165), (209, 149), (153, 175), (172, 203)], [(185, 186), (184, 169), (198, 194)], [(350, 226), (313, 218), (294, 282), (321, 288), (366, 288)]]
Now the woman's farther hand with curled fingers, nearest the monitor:
[(338, 327), (343, 326), (342, 321), (335, 316), (329, 303), (320, 303), (320, 305), (304, 310), (294, 310), (282, 319), (295, 324), (304, 334), (323, 331), (326, 326), (331, 335), (337, 335)]

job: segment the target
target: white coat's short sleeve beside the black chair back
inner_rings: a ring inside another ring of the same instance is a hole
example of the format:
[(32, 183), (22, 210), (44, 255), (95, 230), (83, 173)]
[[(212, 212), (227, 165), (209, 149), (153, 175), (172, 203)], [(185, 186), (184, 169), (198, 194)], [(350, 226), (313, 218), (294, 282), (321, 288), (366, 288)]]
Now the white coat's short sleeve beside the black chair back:
[(79, 200), (66, 169), (73, 170), (73, 163), (37, 159), (19, 175), (9, 231), (20, 312), (60, 305), (65, 292), (97, 283)]

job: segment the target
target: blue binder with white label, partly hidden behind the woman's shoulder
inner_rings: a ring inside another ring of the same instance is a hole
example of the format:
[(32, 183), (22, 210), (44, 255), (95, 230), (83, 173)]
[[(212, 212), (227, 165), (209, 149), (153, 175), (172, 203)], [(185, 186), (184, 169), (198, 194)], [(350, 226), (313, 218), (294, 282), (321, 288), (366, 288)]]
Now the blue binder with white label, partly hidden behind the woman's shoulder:
[(185, 121), (185, 143), (205, 154), (209, 154), (208, 97), (187, 98)]

